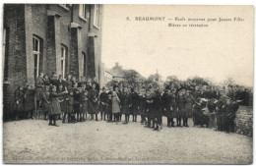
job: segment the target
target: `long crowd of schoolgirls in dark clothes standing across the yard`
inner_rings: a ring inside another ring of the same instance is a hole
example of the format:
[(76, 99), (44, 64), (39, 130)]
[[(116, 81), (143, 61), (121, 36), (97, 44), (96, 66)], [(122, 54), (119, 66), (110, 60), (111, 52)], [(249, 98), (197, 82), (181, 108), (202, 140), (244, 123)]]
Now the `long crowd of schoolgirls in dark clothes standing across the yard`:
[(77, 123), (99, 118), (127, 125), (140, 116), (142, 125), (160, 131), (163, 117), (168, 128), (188, 128), (188, 118), (192, 117), (194, 126), (229, 133), (234, 132), (239, 104), (249, 105), (249, 92), (238, 85), (195, 82), (169, 82), (163, 87), (115, 82), (100, 88), (96, 79), (81, 77), (78, 82), (71, 75), (63, 79), (56, 73), (50, 78), (40, 73), (34, 85), (20, 86), (15, 91), (14, 103), (16, 120), (42, 116), (55, 127), (57, 120)]

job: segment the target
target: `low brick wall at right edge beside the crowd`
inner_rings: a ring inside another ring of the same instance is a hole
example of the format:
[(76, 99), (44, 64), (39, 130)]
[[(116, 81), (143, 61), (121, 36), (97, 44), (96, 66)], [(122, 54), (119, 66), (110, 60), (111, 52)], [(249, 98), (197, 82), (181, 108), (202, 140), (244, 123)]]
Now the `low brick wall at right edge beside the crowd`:
[(249, 137), (253, 136), (252, 106), (239, 106), (235, 118), (235, 133)]

